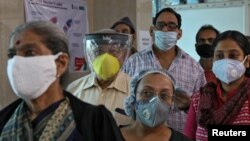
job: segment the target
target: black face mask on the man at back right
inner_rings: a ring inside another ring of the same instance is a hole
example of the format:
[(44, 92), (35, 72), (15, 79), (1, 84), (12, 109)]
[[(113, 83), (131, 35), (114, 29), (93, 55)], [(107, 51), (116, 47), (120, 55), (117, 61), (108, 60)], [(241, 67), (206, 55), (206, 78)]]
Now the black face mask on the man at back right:
[(196, 46), (197, 54), (202, 58), (212, 58), (212, 47), (209, 44), (200, 44)]

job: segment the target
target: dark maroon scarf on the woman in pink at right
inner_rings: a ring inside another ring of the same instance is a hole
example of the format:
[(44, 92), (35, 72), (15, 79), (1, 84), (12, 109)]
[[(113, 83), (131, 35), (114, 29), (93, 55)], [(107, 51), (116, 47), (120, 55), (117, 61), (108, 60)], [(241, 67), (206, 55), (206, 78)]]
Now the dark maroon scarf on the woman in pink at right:
[(250, 78), (233, 91), (232, 95), (227, 102), (221, 104), (216, 85), (208, 83), (201, 89), (198, 123), (204, 128), (207, 128), (207, 125), (229, 124), (250, 97)]

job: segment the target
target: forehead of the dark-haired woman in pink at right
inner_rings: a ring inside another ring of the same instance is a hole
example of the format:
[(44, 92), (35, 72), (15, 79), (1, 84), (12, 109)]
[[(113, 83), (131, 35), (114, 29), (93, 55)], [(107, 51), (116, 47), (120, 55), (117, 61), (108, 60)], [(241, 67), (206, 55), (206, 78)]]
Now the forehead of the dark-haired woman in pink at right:
[(224, 39), (218, 42), (215, 47), (215, 52), (230, 52), (230, 51), (239, 51), (243, 54), (243, 50), (233, 39)]

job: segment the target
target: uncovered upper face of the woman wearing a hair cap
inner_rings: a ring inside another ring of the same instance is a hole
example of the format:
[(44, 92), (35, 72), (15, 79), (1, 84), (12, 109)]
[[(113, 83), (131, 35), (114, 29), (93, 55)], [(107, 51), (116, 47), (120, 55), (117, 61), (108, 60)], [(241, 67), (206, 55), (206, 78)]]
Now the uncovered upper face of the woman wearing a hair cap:
[(138, 84), (136, 99), (148, 101), (158, 96), (163, 102), (172, 104), (173, 84), (166, 76), (155, 73), (146, 75)]

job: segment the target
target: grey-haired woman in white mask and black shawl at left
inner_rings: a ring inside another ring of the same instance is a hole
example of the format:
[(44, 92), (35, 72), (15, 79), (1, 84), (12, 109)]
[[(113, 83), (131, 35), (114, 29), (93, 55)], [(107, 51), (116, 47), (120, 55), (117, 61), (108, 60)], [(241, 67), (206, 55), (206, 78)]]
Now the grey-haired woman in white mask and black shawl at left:
[(7, 75), (18, 100), (0, 111), (1, 141), (124, 140), (104, 106), (63, 90), (68, 40), (50, 21), (22, 24), (11, 34)]

